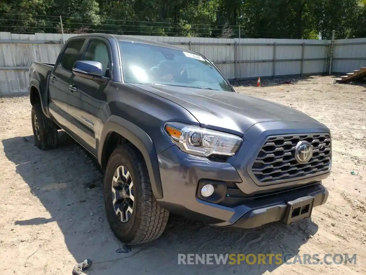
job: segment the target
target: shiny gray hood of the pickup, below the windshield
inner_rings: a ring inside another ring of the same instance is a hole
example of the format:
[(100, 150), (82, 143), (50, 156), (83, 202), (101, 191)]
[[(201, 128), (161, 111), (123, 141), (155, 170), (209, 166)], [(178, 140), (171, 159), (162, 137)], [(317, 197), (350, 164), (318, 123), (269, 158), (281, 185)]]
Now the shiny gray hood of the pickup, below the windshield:
[(197, 118), (202, 127), (236, 135), (243, 135), (258, 122), (317, 122), (290, 107), (237, 92), (167, 85), (132, 85), (179, 104)]

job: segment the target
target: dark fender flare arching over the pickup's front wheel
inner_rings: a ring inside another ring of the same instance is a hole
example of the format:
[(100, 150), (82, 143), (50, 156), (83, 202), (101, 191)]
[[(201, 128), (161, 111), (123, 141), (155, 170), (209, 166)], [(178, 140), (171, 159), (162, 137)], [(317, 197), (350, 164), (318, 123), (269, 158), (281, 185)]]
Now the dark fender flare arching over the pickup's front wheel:
[(100, 135), (100, 143), (98, 147), (98, 162), (102, 165), (102, 157), (105, 147), (105, 139), (111, 132), (116, 132), (119, 135), (130, 141), (135, 147), (140, 150), (150, 177), (150, 184), (156, 199), (163, 198), (163, 189), (161, 187), (160, 170), (158, 164), (158, 157), (155, 146), (149, 135), (141, 128), (136, 126), (116, 115), (111, 115), (105, 122), (102, 133)]

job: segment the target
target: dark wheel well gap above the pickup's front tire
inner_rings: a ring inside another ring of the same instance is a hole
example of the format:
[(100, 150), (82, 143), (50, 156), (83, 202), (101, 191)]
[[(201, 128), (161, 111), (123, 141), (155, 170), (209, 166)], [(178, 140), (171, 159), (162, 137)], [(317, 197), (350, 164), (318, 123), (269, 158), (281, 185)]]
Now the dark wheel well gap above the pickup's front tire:
[(134, 146), (134, 144), (132, 144), (130, 140), (121, 136), (119, 133), (112, 131), (109, 132), (107, 137), (105, 138), (101, 159), (102, 169), (105, 170), (107, 168), (108, 160), (111, 157), (113, 151), (117, 148), (117, 146), (122, 144), (128, 144), (134, 149), (136, 154), (140, 154), (142, 156), (141, 151), (136, 146)]

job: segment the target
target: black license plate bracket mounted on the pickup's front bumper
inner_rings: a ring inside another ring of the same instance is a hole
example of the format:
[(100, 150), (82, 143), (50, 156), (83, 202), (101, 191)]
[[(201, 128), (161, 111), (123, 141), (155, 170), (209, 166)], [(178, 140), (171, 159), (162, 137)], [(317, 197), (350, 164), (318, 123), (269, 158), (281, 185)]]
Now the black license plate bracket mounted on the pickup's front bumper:
[(314, 197), (311, 196), (288, 201), (286, 213), (281, 222), (289, 225), (310, 217), (311, 211), (313, 210), (313, 204)]

